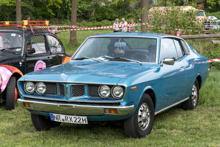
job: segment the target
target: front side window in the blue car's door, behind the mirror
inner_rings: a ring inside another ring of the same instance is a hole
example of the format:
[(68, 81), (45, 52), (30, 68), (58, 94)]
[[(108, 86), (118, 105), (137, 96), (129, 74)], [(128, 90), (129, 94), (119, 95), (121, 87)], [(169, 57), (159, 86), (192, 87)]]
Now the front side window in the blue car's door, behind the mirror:
[(177, 52), (173, 39), (165, 38), (161, 40), (160, 61), (162, 61), (164, 58), (177, 59)]

